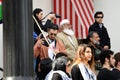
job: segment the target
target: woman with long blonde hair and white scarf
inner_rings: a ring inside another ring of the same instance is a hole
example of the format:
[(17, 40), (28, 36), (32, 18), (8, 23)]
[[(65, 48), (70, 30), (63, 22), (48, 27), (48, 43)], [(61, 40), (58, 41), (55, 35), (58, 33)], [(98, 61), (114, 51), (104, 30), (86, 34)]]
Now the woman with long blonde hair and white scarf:
[(93, 50), (90, 45), (79, 46), (71, 76), (72, 80), (96, 80)]

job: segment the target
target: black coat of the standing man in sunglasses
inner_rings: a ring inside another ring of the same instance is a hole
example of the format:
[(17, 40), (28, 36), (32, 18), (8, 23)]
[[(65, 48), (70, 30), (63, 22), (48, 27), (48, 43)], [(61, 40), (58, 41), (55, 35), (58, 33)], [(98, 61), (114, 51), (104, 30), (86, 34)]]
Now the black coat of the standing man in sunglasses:
[(95, 31), (98, 33), (100, 37), (100, 46), (103, 48), (105, 45), (109, 46), (109, 49), (111, 48), (110, 45), (110, 37), (108, 35), (107, 29), (102, 25), (102, 28), (99, 27), (99, 24), (97, 22), (94, 22), (90, 27), (89, 27), (89, 32), (90, 31)]

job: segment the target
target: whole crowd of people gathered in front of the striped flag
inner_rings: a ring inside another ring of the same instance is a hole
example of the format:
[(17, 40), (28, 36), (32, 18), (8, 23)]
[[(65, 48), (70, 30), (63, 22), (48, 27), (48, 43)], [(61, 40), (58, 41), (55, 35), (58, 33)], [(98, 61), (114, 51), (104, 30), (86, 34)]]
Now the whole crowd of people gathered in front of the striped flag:
[(68, 19), (55, 24), (57, 17), (50, 13), (43, 24), (40, 8), (33, 16), (38, 23), (33, 31), (36, 80), (120, 80), (120, 52), (110, 49), (103, 12), (95, 13), (86, 43), (80, 44)]

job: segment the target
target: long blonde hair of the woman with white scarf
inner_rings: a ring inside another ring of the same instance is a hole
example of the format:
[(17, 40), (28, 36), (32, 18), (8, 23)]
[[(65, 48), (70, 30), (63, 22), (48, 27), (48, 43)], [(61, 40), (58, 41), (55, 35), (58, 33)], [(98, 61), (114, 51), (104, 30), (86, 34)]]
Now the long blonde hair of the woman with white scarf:
[(79, 64), (79, 63), (81, 63), (81, 62), (85, 62), (85, 50), (86, 50), (86, 48), (90, 48), (91, 49), (91, 51), (92, 51), (92, 58), (91, 58), (91, 60), (90, 61), (88, 61), (88, 64), (89, 64), (89, 66), (90, 66), (90, 68), (93, 70), (93, 71), (95, 71), (95, 63), (94, 63), (94, 51), (93, 51), (93, 48), (92, 48), (92, 46), (90, 46), (90, 45), (87, 45), (87, 44), (81, 44), (79, 47), (78, 47), (78, 49), (77, 49), (77, 52), (76, 52), (76, 57), (75, 57), (75, 60), (74, 60), (74, 63), (73, 63), (73, 65), (75, 65), (75, 64)]

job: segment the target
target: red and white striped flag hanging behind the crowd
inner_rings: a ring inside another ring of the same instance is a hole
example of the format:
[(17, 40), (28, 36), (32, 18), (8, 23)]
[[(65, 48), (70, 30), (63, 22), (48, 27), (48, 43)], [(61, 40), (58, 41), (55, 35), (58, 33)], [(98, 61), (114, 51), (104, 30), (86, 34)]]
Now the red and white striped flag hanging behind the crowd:
[(56, 24), (59, 25), (62, 19), (69, 19), (76, 37), (86, 38), (94, 21), (93, 0), (53, 0), (53, 11), (61, 15), (61, 19), (56, 19)]

